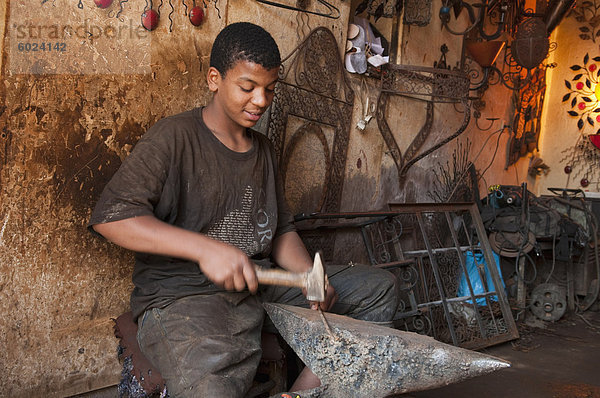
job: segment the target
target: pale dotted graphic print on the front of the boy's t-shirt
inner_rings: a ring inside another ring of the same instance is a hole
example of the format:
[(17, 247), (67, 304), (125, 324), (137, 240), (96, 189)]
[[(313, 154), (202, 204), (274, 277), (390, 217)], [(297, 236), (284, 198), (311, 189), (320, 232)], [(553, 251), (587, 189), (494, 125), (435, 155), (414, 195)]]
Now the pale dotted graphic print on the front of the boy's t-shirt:
[(236, 246), (248, 256), (261, 253), (267, 245), (270, 245), (273, 231), (270, 217), (262, 208), (257, 210), (256, 225), (253, 223), (253, 202), (254, 191), (248, 185), (242, 196), (241, 208), (230, 211), (222, 220), (213, 224), (206, 234), (210, 238)]

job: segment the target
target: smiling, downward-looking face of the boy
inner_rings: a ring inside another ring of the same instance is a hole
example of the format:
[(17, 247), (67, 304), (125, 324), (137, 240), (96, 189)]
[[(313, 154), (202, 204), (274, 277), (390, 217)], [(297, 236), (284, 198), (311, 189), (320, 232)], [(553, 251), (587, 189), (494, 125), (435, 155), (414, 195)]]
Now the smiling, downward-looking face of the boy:
[[(214, 68), (213, 68), (214, 69)], [(223, 78), (209, 71), (209, 88), (228, 122), (253, 127), (273, 102), (279, 68), (265, 69), (250, 61), (237, 61)], [(212, 81), (211, 81), (212, 80)]]

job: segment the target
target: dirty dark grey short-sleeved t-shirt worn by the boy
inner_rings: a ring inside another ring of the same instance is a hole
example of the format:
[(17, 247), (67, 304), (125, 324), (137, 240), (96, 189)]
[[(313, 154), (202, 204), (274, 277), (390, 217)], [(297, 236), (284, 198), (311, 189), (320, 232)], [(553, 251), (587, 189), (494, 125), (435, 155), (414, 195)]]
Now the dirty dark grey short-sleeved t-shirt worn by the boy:
[[(210, 132), (201, 108), (160, 120), (104, 188), (89, 226), (154, 215), (230, 243), (256, 262), (268, 259), (273, 238), (294, 227), (270, 141), (247, 134), (252, 149), (239, 153)], [(133, 284), (134, 319), (181, 297), (222, 290), (197, 263), (146, 253), (136, 253)]]

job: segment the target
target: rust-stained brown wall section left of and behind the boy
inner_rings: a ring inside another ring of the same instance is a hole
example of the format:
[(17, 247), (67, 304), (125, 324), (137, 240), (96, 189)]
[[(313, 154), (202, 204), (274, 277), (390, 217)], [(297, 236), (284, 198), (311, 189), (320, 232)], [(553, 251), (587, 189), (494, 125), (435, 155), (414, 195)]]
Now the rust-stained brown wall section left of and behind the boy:
[[(149, 126), (207, 102), (210, 45), (227, 23), (265, 26), (283, 54), (298, 41), (295, 13), (206, 3), (194, 27), (181, 2), (164, 2), (153, 32), (139, 24), (143, 1), (120, 13), (116, 1), (0, 3), (0, 395), (64, 396), (118, 382), (111, 318), (128, 309), (132, 258), (86, 231), (95, 200)], [(329, 24), (340, 42), (341, 11)]]

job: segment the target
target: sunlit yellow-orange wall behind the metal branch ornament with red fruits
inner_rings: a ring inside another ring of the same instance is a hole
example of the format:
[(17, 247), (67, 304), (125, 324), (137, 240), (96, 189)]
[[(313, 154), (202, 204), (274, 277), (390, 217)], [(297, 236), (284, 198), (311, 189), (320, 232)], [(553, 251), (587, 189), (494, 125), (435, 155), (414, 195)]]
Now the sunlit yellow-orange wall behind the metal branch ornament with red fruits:
[[(600, 4), (594, 7), (598, 6)], [(581, 5), (578, 7), (581, 9)], [(551, 187), (600, 191), (600, 149), (593, 147), (588, 138), (600, 128), (599, 113), (594, 112), (598, 108), (596, 83), (600, 62), (593, 59), (600, 55), (600, 39), (596, 36), (599, 17), (593, 18), (593, 14), (586, 13), (586, 18), (578, 21), (577, 15), (572, 12), (551, 36), (551, 40), (559, 45), (549, 59), (556, 63), (556, 68), (548, 71), (540, 152), (550, 171), (539, 178), (540, 194), (549, 194), (547, 188)], [(584, 63), (586, 54), (589, 59)], [(578, 75), (581, 76), (576, 79)], [(576, 114), (569, 115), (569, 111)], [(580, 119), (581, 129), (578, 126)], [(582, 146), (578, 147), (578, 143)], [(567, 166), (571, 173), (565, 172)], [(584, 179), (587, 186), (582, 184)]]

